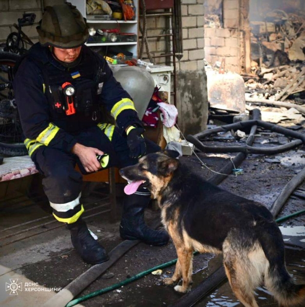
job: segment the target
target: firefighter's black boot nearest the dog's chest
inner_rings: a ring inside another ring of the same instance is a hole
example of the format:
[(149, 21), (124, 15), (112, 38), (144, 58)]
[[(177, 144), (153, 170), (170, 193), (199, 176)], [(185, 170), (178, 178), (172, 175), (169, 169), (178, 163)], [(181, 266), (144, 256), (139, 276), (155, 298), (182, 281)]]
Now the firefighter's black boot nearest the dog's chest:
[(149, 201), (150, 192), (144, 188), (138, 189), (134, 194), (125, 195), (119, 227), (120, 237), (127, 240), (141, 240), (149, 245), (165, 245), (169, 242), (168, 233), (149, 228), (144, 222), (144, 210)]

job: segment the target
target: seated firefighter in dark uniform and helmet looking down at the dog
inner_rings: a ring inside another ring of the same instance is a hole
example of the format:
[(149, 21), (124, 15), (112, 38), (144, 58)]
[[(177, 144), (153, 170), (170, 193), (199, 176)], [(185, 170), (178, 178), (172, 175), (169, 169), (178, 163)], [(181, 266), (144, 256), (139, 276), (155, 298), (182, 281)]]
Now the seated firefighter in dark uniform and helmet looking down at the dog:
[[(113, 77), (106, 60), (84, 45), (88, 29), (71, 4), (46, 7), (38, 39), (18, 65), (14, 93), (25, 144), (43, 174), (54, 217), (66, 223), (72, 245), (83, 260), (109, 259), (82, 220), (82, 174), (125, 167), (159, 147), (143, 138), (144, 128), (132, 98)], [(104, 122), (104, 106), (116, 125)], [(97, 159), (98, 158), (98, 159)], [(144, 223), (150, 192), (126, 195), (120, 223), (123, 239), (165, 245), (169, 236)]]

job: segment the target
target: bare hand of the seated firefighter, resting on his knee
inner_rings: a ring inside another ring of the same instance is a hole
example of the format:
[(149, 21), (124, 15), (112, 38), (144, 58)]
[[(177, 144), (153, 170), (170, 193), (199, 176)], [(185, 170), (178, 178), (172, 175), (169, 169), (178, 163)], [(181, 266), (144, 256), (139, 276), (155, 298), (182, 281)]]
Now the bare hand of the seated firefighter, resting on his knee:
[(96, 156), (104, 155), (103, 151), (76, 143), (72, 148), (72, 152), (79, 158), (87, 172), (97, 171), (101, 168)]

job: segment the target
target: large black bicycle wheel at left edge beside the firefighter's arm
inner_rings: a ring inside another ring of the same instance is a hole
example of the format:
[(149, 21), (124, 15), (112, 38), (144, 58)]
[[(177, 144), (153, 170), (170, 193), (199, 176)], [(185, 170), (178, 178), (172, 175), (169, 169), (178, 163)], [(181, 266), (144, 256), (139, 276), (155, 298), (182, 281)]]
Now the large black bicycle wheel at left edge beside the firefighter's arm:
[(13, 68), (19, 55), (0, 52), (0, 154), (10, 157), (28, 154), (14, 100)]

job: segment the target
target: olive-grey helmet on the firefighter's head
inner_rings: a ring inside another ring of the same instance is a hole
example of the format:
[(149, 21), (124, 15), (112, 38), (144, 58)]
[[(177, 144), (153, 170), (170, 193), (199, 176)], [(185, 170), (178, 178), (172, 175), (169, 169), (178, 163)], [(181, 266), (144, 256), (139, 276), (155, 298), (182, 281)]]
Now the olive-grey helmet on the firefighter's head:
[(70, 3), (47, 6), (36, 29), (42, 45), (63, 49), (79, 47), (89, 37), (84, 17)]

